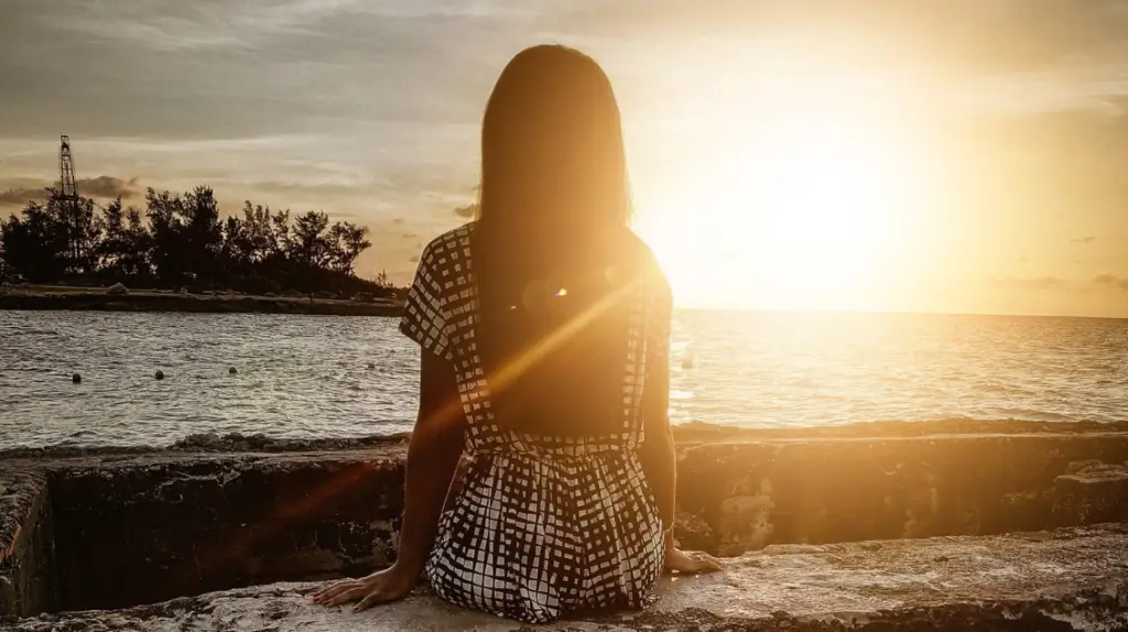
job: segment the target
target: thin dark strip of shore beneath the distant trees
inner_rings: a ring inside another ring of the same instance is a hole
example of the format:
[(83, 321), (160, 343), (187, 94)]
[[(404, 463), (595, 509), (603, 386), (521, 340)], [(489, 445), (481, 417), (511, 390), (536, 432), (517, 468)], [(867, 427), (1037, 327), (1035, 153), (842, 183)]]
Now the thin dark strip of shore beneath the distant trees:
[(91, 287), (33, 286), (26, 290), (0, 288), (0, 310), (399, 317), (403, 304), (393, 299), (352, 301), (218, 292), (188, 294), (156, 290), (112, 294), (106, 290)]

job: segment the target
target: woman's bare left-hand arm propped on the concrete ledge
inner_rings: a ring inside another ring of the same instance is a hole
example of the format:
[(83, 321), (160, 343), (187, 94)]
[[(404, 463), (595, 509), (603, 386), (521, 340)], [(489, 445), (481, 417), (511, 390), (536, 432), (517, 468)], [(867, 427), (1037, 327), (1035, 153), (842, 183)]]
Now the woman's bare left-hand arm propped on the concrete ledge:
[(462, 454), (466, 418), (450, 360), (424, 349), (421, 364), (420, 408), (407, 446), (404, 522), (396, 562), (362, 579), (331, 584), (314, 594), (315, 603), (335, 606), (362, 599), (356, 609), (364, 609), (404, 597), (423, 572)]

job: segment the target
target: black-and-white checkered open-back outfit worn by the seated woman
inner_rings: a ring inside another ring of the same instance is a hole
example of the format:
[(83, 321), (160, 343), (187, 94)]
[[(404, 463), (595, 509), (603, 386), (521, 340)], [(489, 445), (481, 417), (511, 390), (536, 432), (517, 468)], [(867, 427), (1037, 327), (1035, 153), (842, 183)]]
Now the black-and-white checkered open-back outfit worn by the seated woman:
[(662, 573), (663, 532), (636, 448), (647, 357), (669, 353), (669, 288), (635, 293), (623, 431), (539, 436), (494, 424), (476, 353), (470, 223), (424, 250), (400, 331), (450, 359), (469, 466), (440, 519), (426, 575), (444, 599), (544, 623), (575, 611), (641, 608)]

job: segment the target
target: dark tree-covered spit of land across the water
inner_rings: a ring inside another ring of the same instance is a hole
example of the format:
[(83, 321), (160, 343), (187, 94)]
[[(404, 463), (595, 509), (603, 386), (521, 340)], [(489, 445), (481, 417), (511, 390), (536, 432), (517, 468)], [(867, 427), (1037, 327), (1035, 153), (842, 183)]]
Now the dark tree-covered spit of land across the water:
[[(64, 145), (65, 149), (65, 145)], [(356, 276), (368, 226), (214, 193), (148, 189), (144, 208), (49, 188), (0, 219), (0, 309), (341, 313), (398, 311), (382, 273)]]

